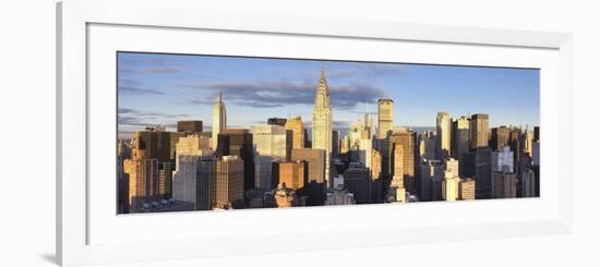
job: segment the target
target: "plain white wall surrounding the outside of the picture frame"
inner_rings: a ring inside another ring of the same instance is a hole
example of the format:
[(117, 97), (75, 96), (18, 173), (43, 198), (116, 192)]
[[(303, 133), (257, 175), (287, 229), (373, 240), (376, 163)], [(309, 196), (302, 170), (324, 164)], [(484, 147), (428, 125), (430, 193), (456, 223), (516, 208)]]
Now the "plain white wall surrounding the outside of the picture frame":
[[(167, 1), (167, 0), (166, 0)], [(209, 9), (574, 33), (575, 233), (127, 266), (598, 266), (600, 16), (597, 1), (219, 1)], [(55, 253), (55, 0), (0, 7), (0, 266)], [(550, 149), (550, 148), (549, 148)], [(357, 218), (361, 219), (361, 218)], [(274, 240), (274, 245), (278, 242)]]

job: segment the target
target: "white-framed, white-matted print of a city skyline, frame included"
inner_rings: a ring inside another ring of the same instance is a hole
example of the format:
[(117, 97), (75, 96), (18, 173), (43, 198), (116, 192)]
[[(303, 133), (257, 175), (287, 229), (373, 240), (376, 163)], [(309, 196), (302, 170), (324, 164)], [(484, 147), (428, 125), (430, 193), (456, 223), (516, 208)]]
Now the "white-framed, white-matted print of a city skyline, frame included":
[(57, 10), (62, 265), (571, 231), (568, 34)]

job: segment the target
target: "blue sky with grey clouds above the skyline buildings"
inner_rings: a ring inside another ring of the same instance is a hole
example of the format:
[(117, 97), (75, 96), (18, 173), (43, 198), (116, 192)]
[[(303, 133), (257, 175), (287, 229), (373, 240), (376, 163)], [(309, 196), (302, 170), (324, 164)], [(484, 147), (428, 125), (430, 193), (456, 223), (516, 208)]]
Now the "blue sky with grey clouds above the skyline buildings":
[(539, 70), (119, 52), (119, 135), (178, 120), (209, 128), (219, 89), (230, 128), (297, 114), (310, 123), (322, 69), (335, 129), (376, 112), (381, 97), (394, 100), (398, 126), (435, 125), (437, 111), (539, 125)]

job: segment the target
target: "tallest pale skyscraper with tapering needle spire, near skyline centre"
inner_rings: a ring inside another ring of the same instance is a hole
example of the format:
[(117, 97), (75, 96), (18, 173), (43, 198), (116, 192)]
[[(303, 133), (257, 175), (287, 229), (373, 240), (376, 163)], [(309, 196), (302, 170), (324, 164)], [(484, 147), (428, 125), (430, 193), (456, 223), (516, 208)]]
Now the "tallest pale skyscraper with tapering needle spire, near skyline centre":
[(314, 110), (312, 113), (312, 148), (325, 150), (325, 183), (329, 183), (329, 161), (332, 155), (332, 102), (329, 87), (325, 78), (325, 72), (321, 71), (321, 78), (314, 96)]

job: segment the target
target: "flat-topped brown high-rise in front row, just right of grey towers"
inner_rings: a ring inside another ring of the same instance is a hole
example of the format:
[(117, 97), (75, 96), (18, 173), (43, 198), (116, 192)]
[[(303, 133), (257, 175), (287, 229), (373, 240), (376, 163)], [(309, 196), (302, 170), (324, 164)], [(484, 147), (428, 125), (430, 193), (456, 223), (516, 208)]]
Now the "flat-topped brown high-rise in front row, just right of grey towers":
[(214, 208), (243, 207), (243, 160), (238, 156), (223, 156), (216, 163)]

